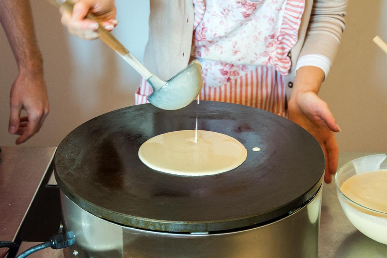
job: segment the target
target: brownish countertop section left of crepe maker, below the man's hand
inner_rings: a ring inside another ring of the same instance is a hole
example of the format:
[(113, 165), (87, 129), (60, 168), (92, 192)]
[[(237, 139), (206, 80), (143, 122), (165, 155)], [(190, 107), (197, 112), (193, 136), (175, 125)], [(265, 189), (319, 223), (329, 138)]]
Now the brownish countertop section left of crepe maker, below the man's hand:
[(0, 240), (14, 241), (56, 148), (0, 148)]

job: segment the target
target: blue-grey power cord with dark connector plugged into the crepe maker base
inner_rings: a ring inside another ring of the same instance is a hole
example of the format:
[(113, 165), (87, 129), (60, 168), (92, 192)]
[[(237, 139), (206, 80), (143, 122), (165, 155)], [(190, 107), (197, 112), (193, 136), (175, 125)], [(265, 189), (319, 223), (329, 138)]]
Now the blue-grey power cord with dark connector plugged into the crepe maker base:
[(48, 247), (51, 247), (52, 249), (62, 249), (66, 248), (68, 246), (71, 246), (75, 243), (75, 237), (74, 233), (72, 231), (69, 231), (67, 233), (58, 233), (50, 237), (50, 241), (37, 244), (36, 246), (33, 246), (20, 255), (16, 256), (16, 258), (24, 258), (32, 253), (35, 253), (41, 249), (45, 249)]

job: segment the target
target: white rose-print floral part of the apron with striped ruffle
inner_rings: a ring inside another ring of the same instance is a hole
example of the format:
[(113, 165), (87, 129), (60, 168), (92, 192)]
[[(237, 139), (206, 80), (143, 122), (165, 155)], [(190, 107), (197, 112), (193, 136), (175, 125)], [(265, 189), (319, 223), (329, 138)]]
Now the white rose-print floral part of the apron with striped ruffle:
[[(204, 2), (205, 1), (205, 2)], [(207, 86), (217, 87), (256, 69), (288, 74), (305, 0), (193, 0), (192, 57)]]

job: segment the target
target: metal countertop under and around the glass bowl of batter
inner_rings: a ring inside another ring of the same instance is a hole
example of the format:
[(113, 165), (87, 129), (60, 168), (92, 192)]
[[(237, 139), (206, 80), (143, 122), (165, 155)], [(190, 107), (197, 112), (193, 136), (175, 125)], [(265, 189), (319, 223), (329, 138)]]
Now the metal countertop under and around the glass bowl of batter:
[[(339, 167), (374, 153), (343, 152)], [(366, 237), (349, 222), (337, 199), (334, 181), (323, 186), (319, 258), (386, 258), (387, 245)]]

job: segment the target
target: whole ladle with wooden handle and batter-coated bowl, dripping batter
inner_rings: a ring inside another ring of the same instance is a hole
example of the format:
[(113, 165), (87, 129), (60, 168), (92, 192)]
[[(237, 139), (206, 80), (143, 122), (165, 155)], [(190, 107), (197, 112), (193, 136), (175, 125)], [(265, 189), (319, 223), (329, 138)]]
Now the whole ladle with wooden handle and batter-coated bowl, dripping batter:
[[(67, 0), (47, 0), (56, 7), (62, 7), (72, 12), (74, 2)], [(149, 72), (109, 31), (100, 23), (97, 17), (88, 13), (88, 19), (98, 22), (99, 38), (113, 49), (120, 57), (130, 64), (139, 74), (151, 84), (153, 93), (147, 100), (154, 106), (165, 110), (175, 110), (187, 106), (199, 95), (202, 86), (202, 66), (199, 61), (193, 60), (187, 68), (180, 71), (168, 81), (163, 81)], [(162, 65), (162, 64), (160, 64)]]

